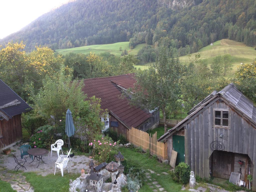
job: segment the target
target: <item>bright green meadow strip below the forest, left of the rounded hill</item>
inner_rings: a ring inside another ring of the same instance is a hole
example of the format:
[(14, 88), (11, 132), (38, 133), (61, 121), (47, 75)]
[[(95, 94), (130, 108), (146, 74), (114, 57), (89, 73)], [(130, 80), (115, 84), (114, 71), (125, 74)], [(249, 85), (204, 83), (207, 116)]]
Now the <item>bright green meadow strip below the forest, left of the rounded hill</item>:
[[(75, 47), (70, 49), (57, 49), (55, 51), (62, 55), (66, 55), (70, 52), (82, 53), (82, 54), (89, 54), (90, 52), (93, 52), (95, 54), (109, 52), (116, 56), (121, 56), (122, 51), (126, 49), (129, 54), (137, 55), (138, 51), (142, 49), (143, 46), (146, 46), (146, 45), (147, 44), (139, 44), (134, 49), (130, 49), (129, 41), (127, 41), (127, 42), (118, 42), (118, 43), (105, 44), (105, 45), (88, 45), (88, 46)], [(120, 47), (122, 47), (122, 51), (119, 50)]]

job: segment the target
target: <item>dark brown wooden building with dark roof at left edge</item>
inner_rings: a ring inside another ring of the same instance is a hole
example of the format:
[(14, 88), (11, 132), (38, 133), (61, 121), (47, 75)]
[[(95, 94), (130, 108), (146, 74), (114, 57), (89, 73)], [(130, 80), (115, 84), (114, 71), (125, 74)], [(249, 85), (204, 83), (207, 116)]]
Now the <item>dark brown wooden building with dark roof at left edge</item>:
[(0, 150), (22, 138), (21, 114), (31, 109), (0, 79)]

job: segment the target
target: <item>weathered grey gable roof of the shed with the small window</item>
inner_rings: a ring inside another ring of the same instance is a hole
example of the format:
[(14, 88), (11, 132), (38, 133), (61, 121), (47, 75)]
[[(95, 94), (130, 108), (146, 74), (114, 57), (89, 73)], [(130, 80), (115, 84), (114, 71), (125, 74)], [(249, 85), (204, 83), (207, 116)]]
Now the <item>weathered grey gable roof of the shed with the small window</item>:
[(188, 116), (179, 122), (175, 127), (168, 130), (164, 135), (162, 135), (157, 141), (162, 141), (180, 130), (183, 125), (193, 118), (194, 115), (197, 114), (200, 110), (204, 109), (204, 107), (211, 102), (212, 100), (222, 97), (225, 99), (231, 106), (233, 106), (237, 111), (242, 113), (249, 121), (256, 125), (256, 106), (253, 101), (249, 99), (246, 95), (244, 95), (241, 91), (237, 89), (237, 87), (230, 83), (228, 86), (223, 88), (221, 91), (217, 93), (217, 91), (212, 92), (208, 95), (204, 100), (198, 103), (193, 109), (188, 112)]

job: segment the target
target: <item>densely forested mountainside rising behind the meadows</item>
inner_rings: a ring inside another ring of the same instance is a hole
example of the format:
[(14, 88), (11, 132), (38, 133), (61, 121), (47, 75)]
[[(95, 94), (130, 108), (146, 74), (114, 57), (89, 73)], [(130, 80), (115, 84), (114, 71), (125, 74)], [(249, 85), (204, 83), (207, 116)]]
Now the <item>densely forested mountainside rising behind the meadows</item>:
[(0, 40), (21, 41), (27, 50), (130, 41), (174, 44), (180, 55), (223, 38), (256, 43), (254, 0), (77, 0)]

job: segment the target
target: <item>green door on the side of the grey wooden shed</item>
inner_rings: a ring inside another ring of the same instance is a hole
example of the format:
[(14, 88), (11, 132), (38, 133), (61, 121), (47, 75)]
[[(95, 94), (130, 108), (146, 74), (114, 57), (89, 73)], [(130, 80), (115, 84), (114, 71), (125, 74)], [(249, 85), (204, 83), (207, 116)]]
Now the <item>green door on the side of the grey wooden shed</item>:
[(173, 150), (177, 151), (176, 165), (185, 162), (185, 137), (173, 135)]

